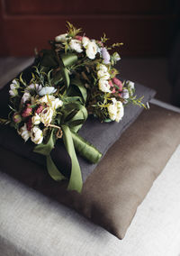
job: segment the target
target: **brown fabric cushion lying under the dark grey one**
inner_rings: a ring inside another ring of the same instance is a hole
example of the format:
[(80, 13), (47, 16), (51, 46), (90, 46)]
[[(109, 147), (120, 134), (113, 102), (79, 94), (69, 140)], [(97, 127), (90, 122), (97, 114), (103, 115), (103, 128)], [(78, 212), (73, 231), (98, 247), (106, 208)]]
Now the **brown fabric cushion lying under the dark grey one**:
[[(137, 207), (180, 143), (180, 114), (151, 105), (112, 145), (82, 194), (49, 178), (31, 160), (0, 149), (0, 169), (102, 225), (122, 239)], [(9, 160), (11, 159), (11, 161)]]

